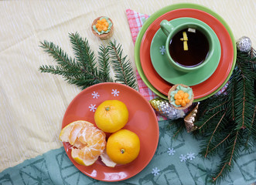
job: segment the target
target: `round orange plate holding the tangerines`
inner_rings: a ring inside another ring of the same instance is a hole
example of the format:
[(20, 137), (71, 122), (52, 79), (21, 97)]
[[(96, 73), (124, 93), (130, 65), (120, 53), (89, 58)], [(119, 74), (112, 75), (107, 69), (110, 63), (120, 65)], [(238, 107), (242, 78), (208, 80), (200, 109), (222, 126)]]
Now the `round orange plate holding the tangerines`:
[(63, 146), (71, 162), (82, 173), (96, 180), (113, 182), (135, 176), (152, 160), (159, 142), (159, 124), (152, 106), (138, 91), (119, 83), (106, 82), (84, 89), (73, 99), (63, 117), (62, 128), (76, 120), (94, 123), (94, 110), (107, 99), (118, 99), (127, 106), (129, 119), (124, 128), (135, 132), (141, 141), (138, 157), (131, 163), (114, 168), (106, 167), (99, 157), (93, 165), (84, 167), (72, 159), (70, 144), (63, 143)]

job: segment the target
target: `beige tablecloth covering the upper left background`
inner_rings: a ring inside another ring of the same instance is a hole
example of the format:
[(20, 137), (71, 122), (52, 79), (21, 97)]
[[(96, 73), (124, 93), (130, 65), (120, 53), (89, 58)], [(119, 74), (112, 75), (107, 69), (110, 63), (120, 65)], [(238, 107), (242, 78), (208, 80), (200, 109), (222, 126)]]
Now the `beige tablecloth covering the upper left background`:
[(63, 114), (80, 92), (60, 76), (39, 72), (39, 66), (54, 64), (39, 42), (54, 42), (73, 56), (68, 33), (78, 32), (97, 53), (103, 41), (90, 31), (90, 25), (94, 18), (107, 15), (114, 22), (112, 39), (121, 43), (135, 70), (125, 10), (151, 15), (178, 2), (211, 8), (230, 25), (236, 39), (247, 35), (255, 45), (254, 0), (1, 1), (0, 171), (63, 146), (58, 140)]

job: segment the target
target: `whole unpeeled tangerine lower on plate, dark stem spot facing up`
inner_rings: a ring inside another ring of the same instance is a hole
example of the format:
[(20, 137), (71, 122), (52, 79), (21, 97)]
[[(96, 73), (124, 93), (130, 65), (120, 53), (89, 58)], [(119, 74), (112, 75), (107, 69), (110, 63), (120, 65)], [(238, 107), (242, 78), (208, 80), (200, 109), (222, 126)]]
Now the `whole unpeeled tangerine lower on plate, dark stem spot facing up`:
[(109, 136), (106, 150), (114, 163), (131, 163), (140, 151), (140, 140), (137, 134), (130, 130), (118, 130)]

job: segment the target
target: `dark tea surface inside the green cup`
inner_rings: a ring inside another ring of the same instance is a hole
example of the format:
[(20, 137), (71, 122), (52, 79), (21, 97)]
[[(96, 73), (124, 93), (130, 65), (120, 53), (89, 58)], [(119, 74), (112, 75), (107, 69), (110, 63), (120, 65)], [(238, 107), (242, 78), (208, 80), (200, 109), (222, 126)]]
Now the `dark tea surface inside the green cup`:
[[(183, 47), (183, 32), (187, 35), (188, 50)], [(188, 32), (183, 29), (174, 35), (170, 41), (169, 53), (172, 59), (181, 66), (194, 67), (200, 65), (209, 52), (207, 37), (196, 29), (196, 32)]]

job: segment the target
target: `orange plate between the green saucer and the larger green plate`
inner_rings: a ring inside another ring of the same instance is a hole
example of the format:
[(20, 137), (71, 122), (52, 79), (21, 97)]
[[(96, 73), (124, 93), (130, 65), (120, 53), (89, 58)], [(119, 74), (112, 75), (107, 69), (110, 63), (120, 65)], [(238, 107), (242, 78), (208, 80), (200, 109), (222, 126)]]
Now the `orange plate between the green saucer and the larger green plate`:
[(193, 93), (195, 96), (194, 98), (199, 99), (209, 95), (210, 93), (213, 93), (224, 83), (230, 73), (234, 59), (234, 50), (230, 35), (228, 34), (224, 25), (222, 25), (222, 23), (217, 18), (213, 17), (213, 15), (197, 9), (181, 8), (167, 12), (166, 14), (161, 15), (159, 18), (155, 19), (155, 21), (149, 25), (142, 38), (140, 47), (142, 70), (152, 86), (159, 90), (160, 93), (167, 96), (169, 89), (172, 87), (172, 84), (162, 79), (162, 77), (159, 76), (159, 74), (155, 71), (150, 59), (150, 45), (155, 32), (160, 29), (160, 22), (163, 19), (170, 21), (175, 18), (183, 17), (197, 18), (200, 21), (205, 22), (211, 27), (211, 29), (213, 29), (220, 40), (221, 56), (219, 66), (209, 79), (196, 86), (191, 86), (193, 88)]

